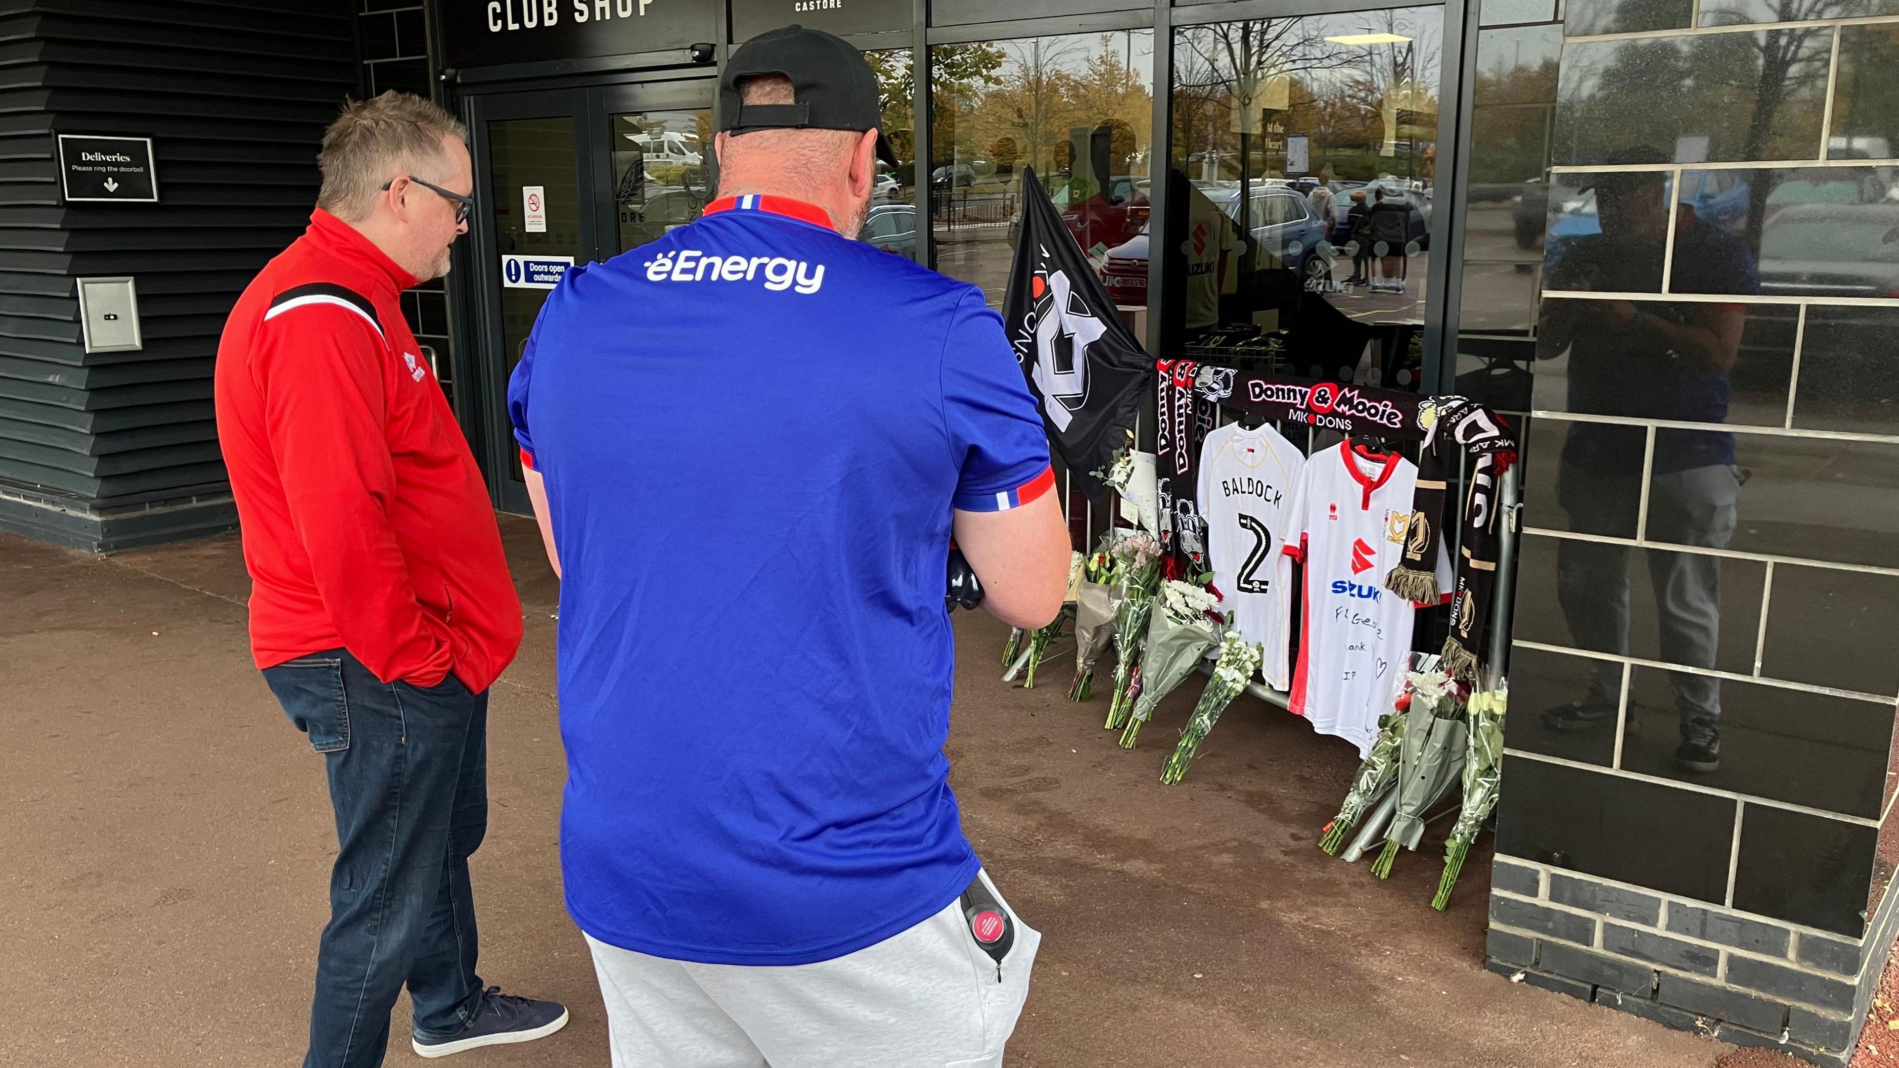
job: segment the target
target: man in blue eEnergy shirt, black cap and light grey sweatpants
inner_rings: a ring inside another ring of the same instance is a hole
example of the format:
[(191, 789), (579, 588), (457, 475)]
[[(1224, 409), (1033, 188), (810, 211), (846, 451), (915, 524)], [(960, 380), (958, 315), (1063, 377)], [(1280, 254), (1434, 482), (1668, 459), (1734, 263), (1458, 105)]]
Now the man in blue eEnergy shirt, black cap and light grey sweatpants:
[(1041, 416), (970, 285), (853, 241), (877, 86), (754, 38), (720, 200), (549, 295), (509, 384), (564, 576), (560, 829), (613, 1062), (997, 1066), (1041, 941), (942, 753), (951, 534), (1043, 625), (1069, 540)]

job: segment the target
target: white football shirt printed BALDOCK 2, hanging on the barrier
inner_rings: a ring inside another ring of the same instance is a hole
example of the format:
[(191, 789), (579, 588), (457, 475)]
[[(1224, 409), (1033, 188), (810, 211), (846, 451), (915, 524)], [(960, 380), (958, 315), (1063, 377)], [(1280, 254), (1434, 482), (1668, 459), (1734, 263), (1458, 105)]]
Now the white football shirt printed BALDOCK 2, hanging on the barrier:
[(1213, 428), (1200, 447), (1200, 515), (1219, 610), (1232, 612), (1242, 639), (1267, 646), (1259, 673), (1274, 690), (1289, 686), (1286, 627), (1293, 599), (1280, 561), (1303, 467), (1305, 454), (1265, 424)]

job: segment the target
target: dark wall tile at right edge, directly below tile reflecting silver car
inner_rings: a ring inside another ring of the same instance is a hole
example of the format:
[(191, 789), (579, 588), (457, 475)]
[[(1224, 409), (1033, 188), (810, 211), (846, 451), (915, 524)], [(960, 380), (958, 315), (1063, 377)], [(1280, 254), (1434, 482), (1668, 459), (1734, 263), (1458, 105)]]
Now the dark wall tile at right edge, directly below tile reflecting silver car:
[(1899, 433), (1899, 308), (1810, 304), (1793, 426)]

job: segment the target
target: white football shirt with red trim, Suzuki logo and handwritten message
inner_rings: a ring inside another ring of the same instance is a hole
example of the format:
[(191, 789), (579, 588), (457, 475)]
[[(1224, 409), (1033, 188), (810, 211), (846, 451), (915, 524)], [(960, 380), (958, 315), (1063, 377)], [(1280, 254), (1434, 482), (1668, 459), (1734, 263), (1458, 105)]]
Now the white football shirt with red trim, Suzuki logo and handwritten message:
[[(1350, 439), (1307, 460), (1293, 494), (1282, 563), (1305, 563), (1299, 665), (1291, 711), (1312, 730), (1371, 753), (1379, 716), (1403, 690), (1417, 604), (1384, 589), (1403, 561), (1417, 464), (1371, 454)], [(1451, 561), (1438, 545), (1438, 589), (1451, 599)]]

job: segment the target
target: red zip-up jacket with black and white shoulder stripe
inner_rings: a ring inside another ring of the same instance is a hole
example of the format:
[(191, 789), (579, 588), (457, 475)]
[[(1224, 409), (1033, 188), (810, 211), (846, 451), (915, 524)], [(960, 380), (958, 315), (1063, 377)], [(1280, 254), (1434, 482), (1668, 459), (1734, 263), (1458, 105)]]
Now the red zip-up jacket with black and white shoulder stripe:
[(260, 669), (342, 646), (384, 682), (482, 692), (520, 646), (488, 490), (403, 321), (414, 283), (317, 209), (224, 323), (218, 445)]

